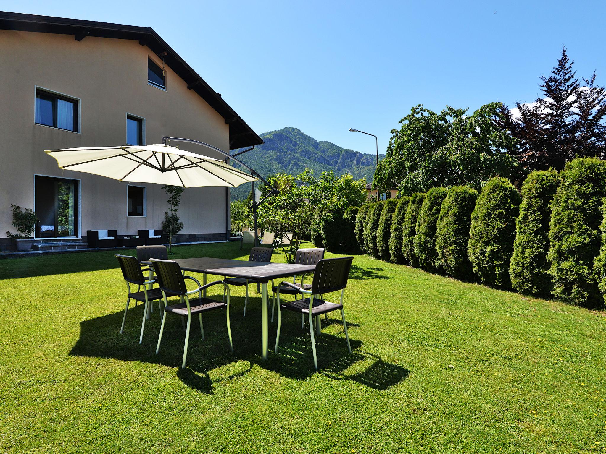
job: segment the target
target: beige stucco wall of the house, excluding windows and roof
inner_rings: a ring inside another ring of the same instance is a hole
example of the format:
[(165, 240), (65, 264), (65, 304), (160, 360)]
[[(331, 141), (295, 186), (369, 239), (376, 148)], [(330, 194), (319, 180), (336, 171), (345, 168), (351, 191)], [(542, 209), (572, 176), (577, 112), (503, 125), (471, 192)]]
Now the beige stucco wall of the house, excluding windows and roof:
[[(10, 204), (34, 208), (34, 175), (81, 180), (82, 235), (87, 229), (160, 228), (167, 203), (159, 185), (147, 186), (147, 217), (127, 217), (127, 183), (61, 171), (43, 150), (126, 143), (127, 113), (145, 118), (145, 143), (190, 137), (229, 150), (229, 127), (166, 67), (167, 90), (147, 84), (150, 48), (138, 41), (0, 30), (0, 237), (11, 226)], [(34, 123), (35, 87), (81, 99), (80, 133)], [(213, 156), (181, 143), (182, 150)], [(220, 157), (215, 154), (213, 157)], [(225, 188), (188, 188), (179, 211), (183, 233), (227, 231)]]

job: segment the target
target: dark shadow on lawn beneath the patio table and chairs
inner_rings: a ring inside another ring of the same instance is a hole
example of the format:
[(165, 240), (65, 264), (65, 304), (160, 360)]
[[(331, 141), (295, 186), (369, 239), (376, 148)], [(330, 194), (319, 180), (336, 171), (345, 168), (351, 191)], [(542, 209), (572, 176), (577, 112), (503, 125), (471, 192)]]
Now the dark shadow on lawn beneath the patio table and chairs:
[[(313, 367), (313, 354), (309, 327), (301, 329), (301, 317), (298, 314), (282, 314), (282, 332), (278, 354), (273, 353), (276, 340), (276, 323), (270, 323), (269, 357), (261, 358), (261, 300), (251, 298), (248, 301), (246, 317), (242, 317), (242, 298), (235, 298), (231, 309), (231, 334), (235, 352), (231, 352), (225, 327), (225, 312), (213, 311), (203, 314), (206, 340), (202, 341), (198, 323), (193, 320), (187, 353), (187, 367), (180, 369), (185, 332), (180, 317), (168, 314), (164, 327), (164, 336), (159, 354), (155, 354), (160, 326), (158, 306), (145, 323), (143, 343), (139, 345), (139, 333), (143, 316), (142, 304), (130, 309), (124, 334), (119, 333), (123, 312), (83, 320), (80, 323), (80, 337), (72, 347), (70, 355), (79, 357), (113, 358), (122, 361), (139, 361), (162, 364), (177, 369), (176, 375), (181, 381), (202, 393), (213, 392), (213, 383), (222, 380), (238, 380), (254, 366), (259, 366), (283, 377), (305, 380), (316, 370)], [(194, 323), (195, 322), (195, 323)], [(322, 320), (322, 326), (341, 324), (341, 320), (330, 318)], [(357, 324), (348, 323), (354, 328)], [(355, 331), (355, 330), (354, 330)], [(351, 334), (351, 333), (350, 333)], [(408, 376), (408, 371), (393, 364), (384, 363), (375, 355), (361, 352), (362, 342), (351, 339), (353, 353), (347, 350), (342, 332), (339, 335), (322, 332), (316, 337), (318, 366), (321, 373), (338, 380), (349, 379), (373, 389), (387, 389), (398, 384)], [(344, 371), (358, 361), (372, 358), (373, 363), (366, 370), (354, 375), (345, 375)], [(239, 364), (245, 366), (239, 366)], [(238, 369), (236, 372), (225, 373)], [(233, 367), (232, 367), (233, 366)]]

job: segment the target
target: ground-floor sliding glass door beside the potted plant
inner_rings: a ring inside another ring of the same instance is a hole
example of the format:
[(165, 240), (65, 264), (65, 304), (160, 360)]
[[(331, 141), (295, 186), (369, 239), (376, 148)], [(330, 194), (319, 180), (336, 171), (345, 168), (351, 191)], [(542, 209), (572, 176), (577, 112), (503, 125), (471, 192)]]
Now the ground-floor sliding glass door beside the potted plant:
[(36, 238), (78, 236), (78, 182), (36, 176)]

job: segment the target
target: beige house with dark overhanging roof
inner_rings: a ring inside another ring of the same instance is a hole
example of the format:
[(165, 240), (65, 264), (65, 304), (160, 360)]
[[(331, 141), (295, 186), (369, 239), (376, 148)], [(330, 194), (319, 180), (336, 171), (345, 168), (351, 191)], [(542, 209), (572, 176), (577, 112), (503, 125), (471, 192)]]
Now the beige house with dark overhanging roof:
[[(0, 12), (0, 250), (12, 249), (10, 205), (33, 208), (44, 243), (82, 246), (87, 230), (159, 229), (160, 185), (61, 170), (44, 150), (188, 137), (221, 150), (261, 137), (149, 27)], [(181, 148), (224, 159), (196, 145)], [(224, 240), (227, 188), (188, 188), (177, 241)]]

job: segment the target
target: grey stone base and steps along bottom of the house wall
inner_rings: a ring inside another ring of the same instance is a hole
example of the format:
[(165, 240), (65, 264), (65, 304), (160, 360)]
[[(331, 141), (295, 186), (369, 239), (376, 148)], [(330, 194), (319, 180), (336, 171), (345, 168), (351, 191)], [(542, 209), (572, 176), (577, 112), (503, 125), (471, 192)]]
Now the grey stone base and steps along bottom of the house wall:
[[(118, 238), (130, 237), (132, 235), (118, 235)], [(230, 239), (229, 233), (186, 233), (178, 234), (173, 237), (173, 245), (183, 244), (197, 244), (197, 243), (217, 243), (225, 242)], [(82, 238), (70, 238), (70, 239), (38, 239), (34, 240), (32, 250), (25, 252), (26, 254), (39, 254), (40, 252), (68, 252), (68, 251), (108, 251), (108, 250), (124, 250), (133, 249), (133, 247), (126, 248), (96, 248), (89, 249), (87, 237)], [(21, 254), (17, 251), (17, 246), (10, 238), (0, 238), (0, 254), (15, 255)]]

